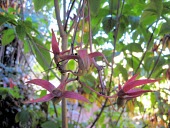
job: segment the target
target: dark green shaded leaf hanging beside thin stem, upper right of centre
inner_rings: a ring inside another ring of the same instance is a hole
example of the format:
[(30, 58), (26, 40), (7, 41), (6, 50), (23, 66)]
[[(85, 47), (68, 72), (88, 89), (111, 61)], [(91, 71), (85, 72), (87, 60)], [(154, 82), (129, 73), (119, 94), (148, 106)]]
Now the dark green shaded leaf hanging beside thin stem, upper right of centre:
[(103, 30), (106, 33), (109, 33), (113, 27), (116, 25), (116, 17), (105, 17), (102, 21), (103, 24)]

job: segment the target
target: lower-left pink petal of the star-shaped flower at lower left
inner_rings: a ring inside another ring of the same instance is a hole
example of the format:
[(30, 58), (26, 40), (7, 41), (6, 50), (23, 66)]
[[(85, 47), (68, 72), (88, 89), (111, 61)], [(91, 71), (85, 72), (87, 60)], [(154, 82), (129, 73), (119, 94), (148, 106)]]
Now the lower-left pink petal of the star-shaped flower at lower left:
[(46, 101), (51, 100), (52, 98), (54, 98), (54, 95), (50, 93), (35, 100), (25, 101), (24, 103), (28, 104), (28, 103), (46, 102)]

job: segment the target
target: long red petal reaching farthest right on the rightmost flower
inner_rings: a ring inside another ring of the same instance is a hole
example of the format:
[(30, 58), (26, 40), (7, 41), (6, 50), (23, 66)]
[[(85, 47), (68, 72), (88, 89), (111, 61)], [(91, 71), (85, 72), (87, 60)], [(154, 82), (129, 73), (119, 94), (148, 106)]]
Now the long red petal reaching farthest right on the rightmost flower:
[(127, 91), (129, 91), (130, 89), (132, 89), (132, 88), (134, 88), (136, 86), (143, 85), (143, 84), (148, 84), (148, 83), (154, 83), (156, 81), (157, 80), (150, 80), (150, 79), (135, 80), (135, 81), (126, 83), (123, 86), (122, 89), (123, 89), (124, 92), (127, 92)]

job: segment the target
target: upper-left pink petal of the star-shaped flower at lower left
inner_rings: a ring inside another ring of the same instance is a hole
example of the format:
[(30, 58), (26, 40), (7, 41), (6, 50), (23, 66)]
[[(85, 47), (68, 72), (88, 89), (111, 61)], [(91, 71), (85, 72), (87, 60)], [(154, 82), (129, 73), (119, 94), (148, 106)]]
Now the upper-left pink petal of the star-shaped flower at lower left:
[(53, 84), (51, 84), (50, 82), (48, 82), (47, 80), (33, 79), (30, 81), (27, 81), (26, 83), (39, 85), (39, 86), (45, 88), (46, 90), (48, 90), (49, 92), (52, 92), (52, 90), (55, 89), (55, 86)]

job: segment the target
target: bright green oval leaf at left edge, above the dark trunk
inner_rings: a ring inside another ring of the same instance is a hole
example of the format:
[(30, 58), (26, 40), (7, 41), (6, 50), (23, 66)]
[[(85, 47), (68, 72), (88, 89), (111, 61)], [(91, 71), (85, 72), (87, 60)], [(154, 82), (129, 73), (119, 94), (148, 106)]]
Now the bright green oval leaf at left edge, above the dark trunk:
[(7, 29), (3, 31), (2, 45), (5, 46), (11, 43), (15, 38), (15, 33), (13, 29)]

